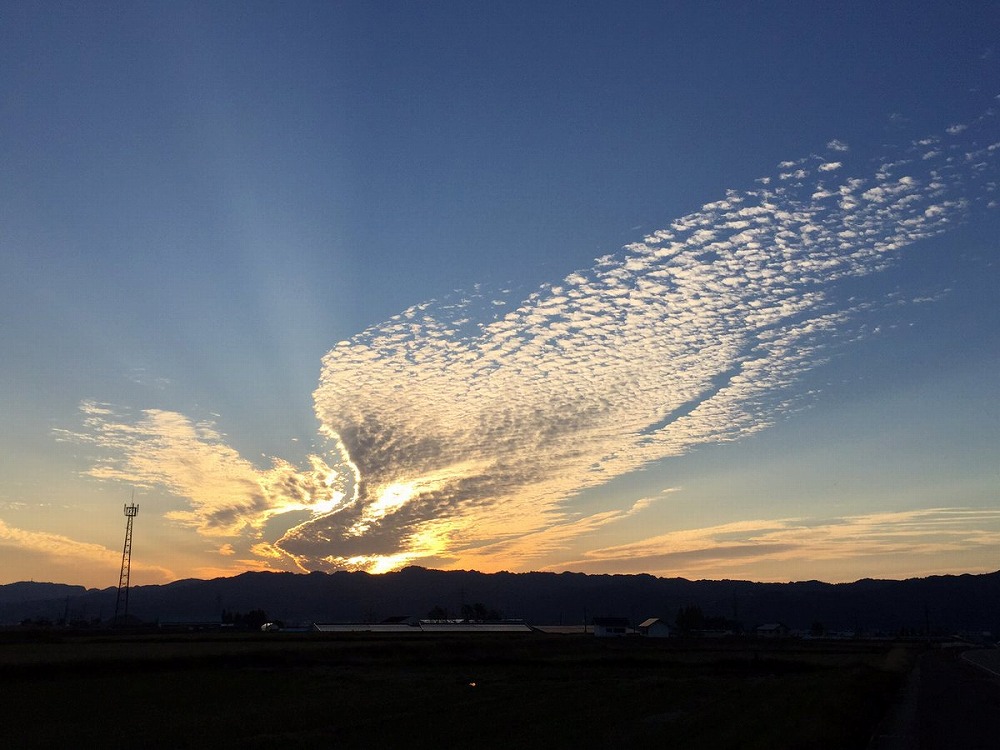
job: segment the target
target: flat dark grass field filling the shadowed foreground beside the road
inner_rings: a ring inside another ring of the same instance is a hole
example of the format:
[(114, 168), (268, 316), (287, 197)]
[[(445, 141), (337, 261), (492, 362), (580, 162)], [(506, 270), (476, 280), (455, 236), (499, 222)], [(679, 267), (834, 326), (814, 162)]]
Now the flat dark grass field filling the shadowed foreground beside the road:
[(864, 748), (914, 653), (569, 635), (0, 640), (5, 745)]

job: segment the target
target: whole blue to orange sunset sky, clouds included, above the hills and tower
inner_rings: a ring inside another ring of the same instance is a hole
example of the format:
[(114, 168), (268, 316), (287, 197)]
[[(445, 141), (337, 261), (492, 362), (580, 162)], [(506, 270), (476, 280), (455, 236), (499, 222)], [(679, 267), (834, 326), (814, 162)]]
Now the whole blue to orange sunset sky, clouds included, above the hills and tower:
[(997, 29), (5, 4), (0, 583), (1000, 569)]

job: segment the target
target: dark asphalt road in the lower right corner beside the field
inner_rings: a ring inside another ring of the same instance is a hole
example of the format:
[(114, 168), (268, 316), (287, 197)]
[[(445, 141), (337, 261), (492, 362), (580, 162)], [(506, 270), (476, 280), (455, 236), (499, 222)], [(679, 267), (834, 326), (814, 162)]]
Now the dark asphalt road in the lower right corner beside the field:
[[(967, 654), (969, 660), (1000, 670), (997, 655)], [(969, 660), (957, 649), (924, 654), (869, 750), (1000, 748), (1000, 674)]]

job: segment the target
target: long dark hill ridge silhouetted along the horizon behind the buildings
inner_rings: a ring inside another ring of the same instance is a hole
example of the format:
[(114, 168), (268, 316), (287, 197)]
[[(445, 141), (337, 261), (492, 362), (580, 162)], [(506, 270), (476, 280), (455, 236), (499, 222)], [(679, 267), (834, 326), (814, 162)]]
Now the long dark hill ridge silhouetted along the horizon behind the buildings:
[[(67, 614), (77, 621), (107, 620), (114, 612), (115, 593), (114, 588), (60, 584), (0, 586), (0, 624), (39, 617), (55, 621)], [(672, 621), (681, 607), (696, 605), (706, 616), (736, 620), (748, 628), (783, 622), (797, 629), (822, 623), (828, 631), (923, 632), (930, 626), (938, 632), (1000, 632), (1000, 572), (847, 584), (418, 567), (384, 575), (243, 573), (136, 586), (129, 611), (154, 622), (218, 622), (223, 610), (255, 609), (285, 622), (374, 622), (395, 615), (424, 617), (435, 607), (459, 616), (462, 605), (475, 603), (533, 624), (579, 624), (601, 615), (624, 616), (633, 623), (652, 616)]]

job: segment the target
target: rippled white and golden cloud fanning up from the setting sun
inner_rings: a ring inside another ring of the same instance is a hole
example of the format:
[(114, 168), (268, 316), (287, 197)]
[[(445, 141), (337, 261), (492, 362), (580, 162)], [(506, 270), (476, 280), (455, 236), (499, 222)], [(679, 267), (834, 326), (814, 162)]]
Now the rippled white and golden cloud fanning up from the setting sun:
[[(530, 564), (647, 504), (582, 516), (576, 493), (790, 408), (873, 304), (841, 285), (995, 205), (997, 140), (987, 114), (855, 168), (831, 141), (521, 301), (412, 307), (324, 358), (333, 450), (305, 469), (259, 470), (170, 412), (91, 404), (76, 437), (109, 449), (94, 476), (165, 485), (205, 534), (261, 540), (272, 515), (311, 511), (256, 547), (303, 569)], [(799, 541), (781, 532), (769, 541)]]

